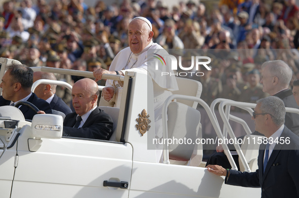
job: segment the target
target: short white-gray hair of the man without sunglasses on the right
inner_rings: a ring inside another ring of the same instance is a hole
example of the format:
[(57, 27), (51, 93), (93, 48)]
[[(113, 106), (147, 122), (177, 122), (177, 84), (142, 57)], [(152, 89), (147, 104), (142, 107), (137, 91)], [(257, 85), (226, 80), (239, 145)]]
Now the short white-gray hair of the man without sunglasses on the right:
[(269, 65), (269, 71), (272, 76), (276, 76), (282, 85), (289, 85), (292, 79), (292, 69), (282, 60), (271, 60), (262, 64), (262, 69)]

